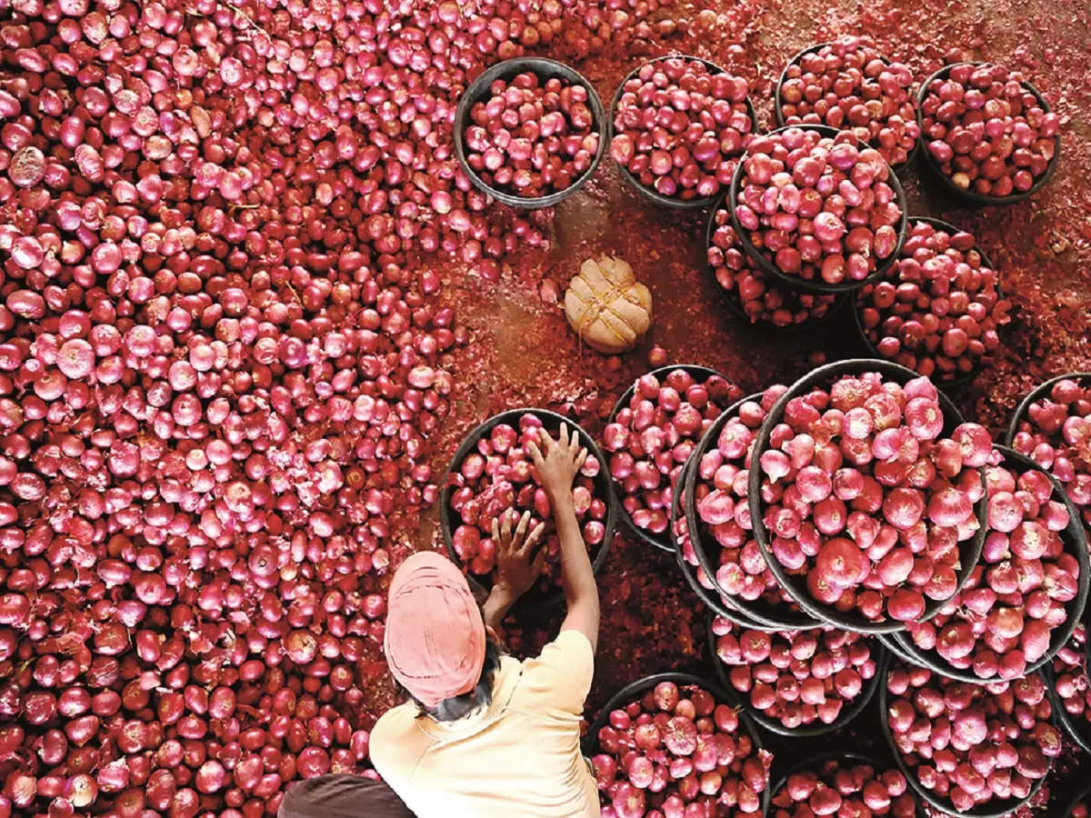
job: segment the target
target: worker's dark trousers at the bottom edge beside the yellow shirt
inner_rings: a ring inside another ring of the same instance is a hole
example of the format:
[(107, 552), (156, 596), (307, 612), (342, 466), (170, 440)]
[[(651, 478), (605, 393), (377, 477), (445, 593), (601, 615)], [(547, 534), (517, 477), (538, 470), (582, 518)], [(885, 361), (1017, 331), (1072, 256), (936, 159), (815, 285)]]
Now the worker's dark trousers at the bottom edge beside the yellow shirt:
[(413, 818), (413, 814), (384, 782), (347, 773), (297, 781), (285, 793), (279, 818)]

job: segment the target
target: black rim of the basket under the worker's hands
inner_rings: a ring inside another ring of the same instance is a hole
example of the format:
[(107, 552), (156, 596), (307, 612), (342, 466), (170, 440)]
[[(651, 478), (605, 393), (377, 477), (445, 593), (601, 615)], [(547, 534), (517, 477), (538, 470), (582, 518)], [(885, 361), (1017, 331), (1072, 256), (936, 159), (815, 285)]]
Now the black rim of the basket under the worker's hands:
[[(456, 520), (456, 515), (451, 508), (451, 495), (454, 493), (454, 486), (448, 478), (458, 471), (458, 467), (461, 465), (463, 460), (466, 459), (466, 456), (476, 450), (477, 442), (488, 435), (492, 431), (493, 426), (499, 423), (508, 423), (515, 429), (518, 429), (519, 418), (528, 413), (540, 418), (542, 426), (553, 435), (559, 432), (562, 423), (566, 424), (570, 429), (575, 429), (579, 435), (580, 444), (587, 448), (587, 454), (598, 458), (599, 473), (592, 478), (596, 486), (595, 494), (599, 500), (607, 504), (607, 517), (603, 522), (606, 531), (602, 537), (602, 542), (596, 546), (595, 552), (590, 555), (591, 568), (596, 574), (598, 574), (602, 564), (606, 562), (607, 554), (610, 552), (610, 543), (613, 540), (614, 530), (618, 526), (618, 503), (613, 494), (613, 482), (610, 480), (610, 474), (607, 469), (606, 460), (602, 458), (602, 453), (599, 450), (599, 447), (595, 443), (594, 438), (574, 421), (558, 414), (556, 412), (552, 412), (549, 409), (508, 409), (500, 412), (499, 414), (492, 416), (485, 421), (482, 421), (470, 430), (469, 434), (463, 438), (463, 442), (455, 452), (454, 457), (451, 458), (451, 465), (447, 467), (447, 472), (443, 480), (443, 490), (440, 492), (440, 529), (443, 532), (443, 542), (447, 546), (447, 554), (457, 565), (463, 565), (461, 560), (455, 552), (454, 542), (452, 540), (454, 529), (459, 524)], [(492, 587), (492, 582), (488, 577), (482, 578), (467, 573), (467, 580), (469, 581), (471, 588), (482, 593), (488, 592)], [(539, 594), (537, 597), (531, 590), (516, 604), (520, 608), (528, 609), (551, 608), (563, 601), (564, 592), (560, 589), (558, 589), (555, 593), (548, 596)]]

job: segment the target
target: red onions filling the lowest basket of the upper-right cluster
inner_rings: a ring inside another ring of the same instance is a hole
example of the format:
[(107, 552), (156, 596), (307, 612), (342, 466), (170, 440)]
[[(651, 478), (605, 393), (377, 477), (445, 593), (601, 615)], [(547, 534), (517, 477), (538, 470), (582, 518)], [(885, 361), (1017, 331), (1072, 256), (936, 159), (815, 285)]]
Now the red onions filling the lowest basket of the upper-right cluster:
[(879, 356), (934, 381), (972, 374), (1010, 321), (998, 285), (971, 233), (910, 219), (898, 261), (856, 297), (860, 325)]

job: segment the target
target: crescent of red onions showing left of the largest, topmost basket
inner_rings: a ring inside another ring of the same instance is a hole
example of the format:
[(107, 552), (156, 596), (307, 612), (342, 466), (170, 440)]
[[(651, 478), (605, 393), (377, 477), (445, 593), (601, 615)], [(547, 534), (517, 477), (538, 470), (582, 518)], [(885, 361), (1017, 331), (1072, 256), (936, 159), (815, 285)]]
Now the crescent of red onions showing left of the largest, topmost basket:
[[(754, 539), (746, 482), (758, 429), (787, 390), (787, 386), (774, 385), (759, 400), (740, 404), (735, 417), (727, 420), (720, 430), (716, 446), (696, 464), (694, 476), (697, 519), (707, 528), (698, 533), (702, 546), (709, 557), (715, 554), (712, 543), (719, 548), (719, 556), (712, 561), (718, 565), (716, 587), (729, 598), (764, 600), (772, 605), (784, 604), (790, 598), (769, 570)], [(692, 548), (691, 544), (691, 552)], [(697, 565), (695, 553), (683, 556)], [(698, 579), (703, 574), (698, 568)]]

